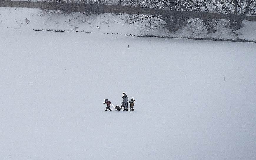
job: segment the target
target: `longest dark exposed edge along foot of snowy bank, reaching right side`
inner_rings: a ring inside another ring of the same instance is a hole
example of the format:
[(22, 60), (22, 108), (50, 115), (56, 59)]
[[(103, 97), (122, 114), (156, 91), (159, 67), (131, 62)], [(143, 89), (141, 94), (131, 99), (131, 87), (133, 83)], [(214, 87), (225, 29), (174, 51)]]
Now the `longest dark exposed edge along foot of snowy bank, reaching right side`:
[(197, 38), (197, 37), (172, 37), (172, 36), (155, 36), (152, 34), (144, 34), (144, 35), (138, 35), (137, 37), (157, 37), (157, 38), (168, 38), (168, 39), (174, 39), (174, 38), (182, 38), (182, 39), (194, 39), (194, 40), (210, 40), (210, 41), (229, 41), (229, 42), (252, 42), (256, 43), (256, 41), (253, 40), (247, 40), (247, 39), (220, 39), (220, 38)]

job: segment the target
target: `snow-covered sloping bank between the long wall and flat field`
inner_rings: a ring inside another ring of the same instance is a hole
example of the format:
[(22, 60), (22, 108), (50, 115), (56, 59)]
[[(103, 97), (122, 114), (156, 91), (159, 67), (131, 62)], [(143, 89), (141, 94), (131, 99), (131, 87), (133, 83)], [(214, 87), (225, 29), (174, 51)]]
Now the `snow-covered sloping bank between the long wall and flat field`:
[[(129, 14), (116, 16), (115, 14), (94, 14), (84, 15), (82, 13), (71, 14), (42, 14), (41, 9), (33, 8), (4, 8), (0, 7), (0, 27), (23, 28), (23, 29), (52, 29), (66, 31), (83, 31), (94, 33), (110, 34), (132, 34), (144, 35), (153, 34), (156, 36), (175, 37), (208, 37), (220, 39), (247, 39), (256, 41), (256, 22), (244, 21), (243, 27), (237, 30), (240, 34), (235, 37), (230, 30), (221, 26), (217, 27), (217, 33), (207, 34), (200, 28), (200, 24), (184, 26), (182, 29), (170, 33), (167, 29), (151, 28), (147, 24), (127, 24), (126, 19)], [(26, 19), (28, 23), (26, 23)]]

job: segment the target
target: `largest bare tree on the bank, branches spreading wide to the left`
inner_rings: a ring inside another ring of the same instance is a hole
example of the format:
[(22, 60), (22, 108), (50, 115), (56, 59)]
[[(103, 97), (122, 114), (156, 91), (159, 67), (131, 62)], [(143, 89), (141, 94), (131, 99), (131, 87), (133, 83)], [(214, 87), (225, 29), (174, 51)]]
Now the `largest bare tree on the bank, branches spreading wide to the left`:
[(131, 6), (149, 8), (153, 11), (149, 14), (131, 16), (129, 22), (146, 21), (150, 27), (162, 26), (170, 31), (177, 31), (188, 20), (184, 11), (189, 10), (190, 4), (190, 0), (131, 0)]

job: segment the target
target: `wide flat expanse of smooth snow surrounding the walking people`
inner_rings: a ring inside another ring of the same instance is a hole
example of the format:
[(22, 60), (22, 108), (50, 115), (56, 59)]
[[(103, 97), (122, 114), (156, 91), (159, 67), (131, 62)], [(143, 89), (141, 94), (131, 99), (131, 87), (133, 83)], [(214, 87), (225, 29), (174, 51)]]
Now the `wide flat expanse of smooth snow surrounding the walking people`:
[(255, 43), (0, 34), (1, 160), (256, 159)]

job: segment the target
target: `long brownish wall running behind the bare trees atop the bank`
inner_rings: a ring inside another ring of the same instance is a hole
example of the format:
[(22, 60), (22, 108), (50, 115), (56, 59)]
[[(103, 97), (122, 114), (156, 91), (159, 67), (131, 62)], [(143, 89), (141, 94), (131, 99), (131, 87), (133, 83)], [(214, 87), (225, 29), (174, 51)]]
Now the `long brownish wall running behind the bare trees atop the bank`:
[[(0, 0), (0, 7), (24, 7), (24, 8), (38, 8), (38, 9), (52, 9), (61, 10), (64, 4), (52, 2), (32, 2), (32, 1), (3, 1)], [(90, 4), (68, 4), (71, 11), (83, 12), (93, 7)], [(116, 6), (116, 5), (99, 5), (102, 13), (129, 13), (129, 14), (154, 14), (156, 10), (150, 8), (139, 8), (131, 6)], [(163, 10), (164, 14), (172, 14), (169, 10)], [(186, 11), (184, 15), (187, 18), (205, 18), (205, 19), (230, 19), (234, 15), (226, 15), (219, 13), (207, 12), (192, 12)], [(235, 19), (239, 16), (235, 15)], [(256, 16), (245, 16), (247, 21), (256, 21)]]

